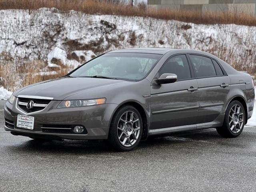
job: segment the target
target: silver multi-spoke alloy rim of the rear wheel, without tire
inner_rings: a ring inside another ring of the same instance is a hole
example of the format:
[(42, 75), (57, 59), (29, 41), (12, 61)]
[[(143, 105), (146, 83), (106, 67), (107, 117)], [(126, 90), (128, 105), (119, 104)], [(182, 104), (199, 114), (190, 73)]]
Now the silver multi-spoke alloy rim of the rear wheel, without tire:
[(228, 114), (228, 125), (233, 133), (239, 133), (244, 124), (244, 112), (241, 106), (235, 104)]

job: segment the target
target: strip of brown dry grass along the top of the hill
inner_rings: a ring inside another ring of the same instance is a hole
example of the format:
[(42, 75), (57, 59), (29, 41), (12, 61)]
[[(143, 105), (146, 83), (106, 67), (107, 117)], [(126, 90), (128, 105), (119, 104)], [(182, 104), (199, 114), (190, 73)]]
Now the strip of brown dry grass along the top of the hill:
[(256, 26), (256, 17), (239, 12), (200, 12), (186, 10), (171, 10), (132, 7), (123, 4), (113, 4), (104, 0), (0, 0), (0, 9), (58, 8), (63, 11), (77, 10), (87, 14), (111, 14), (124, 16), (143, 16), (164, 20), (179, 20), (196, 24), (238, 24)]

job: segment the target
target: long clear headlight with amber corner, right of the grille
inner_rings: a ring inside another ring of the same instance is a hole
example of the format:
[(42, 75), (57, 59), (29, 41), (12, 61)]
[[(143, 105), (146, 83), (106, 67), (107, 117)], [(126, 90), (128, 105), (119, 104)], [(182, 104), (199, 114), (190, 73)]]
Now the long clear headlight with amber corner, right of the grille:
[(60, 102), (57, 108), (84, 107), (92, 105), (105, 104), (106, 98), (86, 99), (86, 100), (64, 100)]

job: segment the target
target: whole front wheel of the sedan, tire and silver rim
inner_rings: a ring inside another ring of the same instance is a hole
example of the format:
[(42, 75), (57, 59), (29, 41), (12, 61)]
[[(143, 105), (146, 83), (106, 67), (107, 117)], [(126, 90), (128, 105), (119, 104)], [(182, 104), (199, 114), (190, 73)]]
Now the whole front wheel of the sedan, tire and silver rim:
[(132, 150), (140, 142), (142, 125), (142, 118), (138, 110), (130, 105), (123, 106), (113, 116), (108, 142), (115, 150)]

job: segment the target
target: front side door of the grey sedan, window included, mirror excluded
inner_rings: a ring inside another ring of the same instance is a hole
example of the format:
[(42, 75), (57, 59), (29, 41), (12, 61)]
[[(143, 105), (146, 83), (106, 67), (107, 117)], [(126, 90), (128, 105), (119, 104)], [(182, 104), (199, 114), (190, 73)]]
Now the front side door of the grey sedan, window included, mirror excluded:
[(164, 73), (176, 74), (178, 79), (174, 83), (151, 86), (150, 129), (196, 124), (198, 84), (196, 79), (192, 79), (186, 55), (168, 59), (156, 76)]

